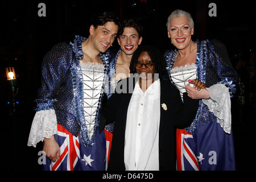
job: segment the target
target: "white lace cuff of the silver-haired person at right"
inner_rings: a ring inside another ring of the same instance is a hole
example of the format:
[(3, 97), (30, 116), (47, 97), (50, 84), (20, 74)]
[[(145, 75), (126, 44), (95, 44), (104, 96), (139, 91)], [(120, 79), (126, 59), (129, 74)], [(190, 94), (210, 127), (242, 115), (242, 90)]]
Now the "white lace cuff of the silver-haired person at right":
[(224, 84), (215, 84), (207, 88), (210, 94), (208, 100), (203, 99), (203, 103), (209, 107), (217, 117), (217, 123), (223, 128), (225, 133), (231, 131), (231, 101), (229, 88)]

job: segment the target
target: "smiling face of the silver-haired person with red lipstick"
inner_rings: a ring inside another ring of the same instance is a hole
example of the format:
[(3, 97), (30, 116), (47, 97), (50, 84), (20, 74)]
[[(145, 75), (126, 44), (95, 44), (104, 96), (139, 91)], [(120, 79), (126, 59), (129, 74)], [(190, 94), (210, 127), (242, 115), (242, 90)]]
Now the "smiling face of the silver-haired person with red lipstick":
[(191, 43), (191, 35), (194, 34), (194, 27), (190, 27), (187, 16), (179, 16), (170, 20), (168, 38), (179, 49), (185, 49)]

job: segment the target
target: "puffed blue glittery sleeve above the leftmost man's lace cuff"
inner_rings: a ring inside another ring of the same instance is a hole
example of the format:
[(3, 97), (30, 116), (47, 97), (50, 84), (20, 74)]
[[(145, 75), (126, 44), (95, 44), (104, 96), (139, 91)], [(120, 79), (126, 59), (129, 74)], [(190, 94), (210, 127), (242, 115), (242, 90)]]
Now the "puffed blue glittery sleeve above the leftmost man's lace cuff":
[(67, 43), (59, 43), (44, 57), (42, 63), (41, 86), (38, 90), (38, 99), (35, 100), (35, 111), (55, 109), (58, 90), (71, 66), (71, 47)]

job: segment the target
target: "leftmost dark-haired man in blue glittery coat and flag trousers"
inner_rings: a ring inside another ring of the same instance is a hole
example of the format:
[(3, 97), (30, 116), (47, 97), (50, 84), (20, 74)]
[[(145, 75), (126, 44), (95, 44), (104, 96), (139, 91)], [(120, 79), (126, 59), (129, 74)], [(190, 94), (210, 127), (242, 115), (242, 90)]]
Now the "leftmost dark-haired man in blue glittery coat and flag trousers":
[(44, 57), (28, 138), (28, 146), (44, 141), (44, 170), (105, 170), (105, 135), (97, 126), (112, 59), (107, 50), (119, 27), (115, 14), (96, 14), (88, 39), (76, 36)]

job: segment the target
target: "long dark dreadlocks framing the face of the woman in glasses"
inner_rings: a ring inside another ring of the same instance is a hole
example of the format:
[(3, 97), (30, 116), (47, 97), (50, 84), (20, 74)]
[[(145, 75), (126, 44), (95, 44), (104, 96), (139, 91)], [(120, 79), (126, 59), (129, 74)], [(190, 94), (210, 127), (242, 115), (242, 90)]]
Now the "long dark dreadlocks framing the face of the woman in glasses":
[(162, 52), (154, 46), (141, 46), (136, 49), (136, 51), (133, 53), (133, 57), (131, 57), (130, 73), (137, 73), (135, 65), (139, 59), (139, 56), (144, 51), (148, 52), (148, 55), (150, 55), (152, 64), (154, 65), (154, 71), (155, 73), (159, 73), (159, 78), (165, 76), (166, 61), (164, 60)]

